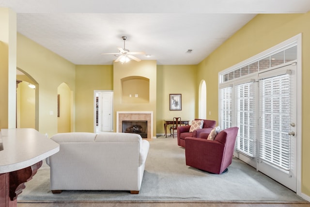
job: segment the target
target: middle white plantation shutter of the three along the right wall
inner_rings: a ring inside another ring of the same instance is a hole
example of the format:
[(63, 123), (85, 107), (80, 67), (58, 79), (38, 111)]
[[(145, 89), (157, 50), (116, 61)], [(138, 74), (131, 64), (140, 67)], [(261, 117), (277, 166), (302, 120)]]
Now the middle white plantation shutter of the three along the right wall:
[(236, 149), (250, 157), (254, 157), (256, 147), (254, 83), (243, 83), (235, 88), (236, 121), (239, 127)]

